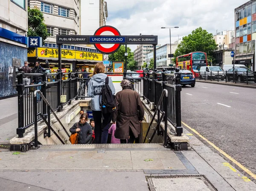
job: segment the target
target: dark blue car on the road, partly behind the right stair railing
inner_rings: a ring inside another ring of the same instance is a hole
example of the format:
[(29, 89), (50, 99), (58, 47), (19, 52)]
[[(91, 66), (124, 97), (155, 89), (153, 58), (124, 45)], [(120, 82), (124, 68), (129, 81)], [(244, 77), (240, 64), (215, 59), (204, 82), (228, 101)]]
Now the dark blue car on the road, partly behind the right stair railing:
[[(192, 88), (195, 87), (195, 74), (189, 70), (181, 70), (181, 78), (180, 78), (180, 85), (186, 86), (190, 85)], [(175, 78), (174, 76), (167, 77), (167, 82), (169, 84), (175, 85)]]

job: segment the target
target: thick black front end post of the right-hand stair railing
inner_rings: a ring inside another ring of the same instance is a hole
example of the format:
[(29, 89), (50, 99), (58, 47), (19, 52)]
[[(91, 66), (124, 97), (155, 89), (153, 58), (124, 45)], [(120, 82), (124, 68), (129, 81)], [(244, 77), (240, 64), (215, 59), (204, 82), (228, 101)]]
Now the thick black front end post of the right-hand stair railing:
[(181, 85), (180, 85), (180, 78), (181, 78), (181, 74), (180, 73), (176, 73), (176, 85), (175, 85), (175, 99), (176, 99), (176, 120), (177, 120), (177, 124), (176, 124), (176, 134), (177, 136), (181, 136), (181, 134), (183, 133), (183, 128), (181, 126), (181, 102), (180, 102), (180, 92), (181, 92)]

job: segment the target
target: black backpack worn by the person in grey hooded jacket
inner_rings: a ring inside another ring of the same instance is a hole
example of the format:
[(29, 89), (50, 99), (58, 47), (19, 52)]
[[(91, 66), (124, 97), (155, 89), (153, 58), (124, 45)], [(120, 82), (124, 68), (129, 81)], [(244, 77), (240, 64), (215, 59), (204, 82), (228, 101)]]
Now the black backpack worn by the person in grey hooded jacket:
[(99, 106), (102, 114), (113, 113), (116, 110), (116, 100), (112, 94), (111, 88), (108, 86), (108, 81), (108, 77), (106, 77), (99, 97)]

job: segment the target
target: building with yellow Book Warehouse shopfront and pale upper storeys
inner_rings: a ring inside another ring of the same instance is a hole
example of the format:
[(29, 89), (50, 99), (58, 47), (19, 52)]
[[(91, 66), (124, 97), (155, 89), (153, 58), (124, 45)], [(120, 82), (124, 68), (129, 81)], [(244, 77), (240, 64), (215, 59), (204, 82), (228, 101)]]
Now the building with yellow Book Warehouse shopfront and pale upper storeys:
[[(44, 14), (45, 24), (49, 37), (41, 48), (36, 48), (33, 54), (28, 54), (30, 65), (36, 60), (43, 67), (51, 68), (52, 72), (58, 69), (58, 45), (56, 35), (80, 35), (81, 34), (81, 0), (29, 0), (31, 9), (39, 9)], [(84, 10), (82, 10), (84, 11)], [(62, 71), (93, 72), (95, 63), (102, 62), (103, 55), (92, 45), (75, 46), (62, 45)], [(45, 65), (48, 60), (49, 66)]]

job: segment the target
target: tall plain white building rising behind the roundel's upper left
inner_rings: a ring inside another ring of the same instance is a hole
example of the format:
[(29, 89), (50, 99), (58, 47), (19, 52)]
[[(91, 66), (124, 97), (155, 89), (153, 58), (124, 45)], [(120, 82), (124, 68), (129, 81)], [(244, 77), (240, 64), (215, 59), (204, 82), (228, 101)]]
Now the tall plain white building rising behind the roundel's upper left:
[(105, 26), (108, 6), (105, 0), (81, 0), (81, 34), (93, 35), (101, 26)]

